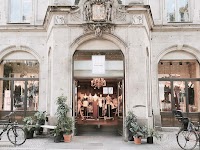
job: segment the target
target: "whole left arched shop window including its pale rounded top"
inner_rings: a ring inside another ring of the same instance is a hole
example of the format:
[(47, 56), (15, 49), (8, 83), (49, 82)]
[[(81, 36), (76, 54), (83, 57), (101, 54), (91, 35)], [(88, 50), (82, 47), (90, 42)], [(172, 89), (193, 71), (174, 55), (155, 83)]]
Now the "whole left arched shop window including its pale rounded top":
[(29, 50), (10, 47), (0, 54), (0, 117), (15, 111), (19, 123), (39, 103), (39, 61)]

